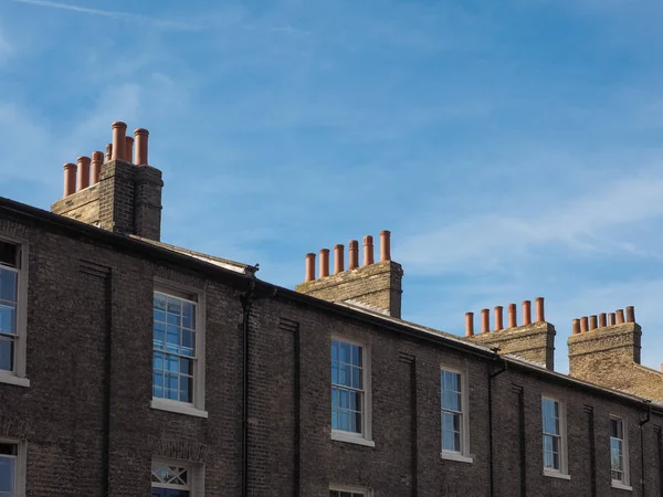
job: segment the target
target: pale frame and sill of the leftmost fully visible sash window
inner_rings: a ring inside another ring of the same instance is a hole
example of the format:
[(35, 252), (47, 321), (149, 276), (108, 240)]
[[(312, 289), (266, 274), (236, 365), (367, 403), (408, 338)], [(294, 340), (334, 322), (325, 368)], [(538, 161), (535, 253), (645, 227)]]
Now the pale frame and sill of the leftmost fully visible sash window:
[[(204, 410), (206, 396), (206, 298), (204, 292), (164, 278), (155, 278), (152, 295), (155, 292), (171, 295), (178, 298), (191, 299), (196, 296), (196, 361), (193, 370), (193, 402), (180, 402), (172, 399), (160, 399), (152, 396), (150, 408), (186, 414), (198, 417), (208, 417)], [(154, 311), (154, 307), (152, 307)], [(154, 334), (154, 331), (152, 331)], [(151, 343), (151, 340), (150, 340)], [(154, 352), (154, 346), (151, 348)], [(152, 380), (154, 381), (154, 380)]]

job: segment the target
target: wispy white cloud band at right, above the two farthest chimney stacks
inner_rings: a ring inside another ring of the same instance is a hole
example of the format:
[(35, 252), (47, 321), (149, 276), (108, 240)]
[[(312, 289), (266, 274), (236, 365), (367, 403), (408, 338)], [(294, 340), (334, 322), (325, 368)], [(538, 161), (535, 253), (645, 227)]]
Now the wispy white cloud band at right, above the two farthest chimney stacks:
[(544, 244), (582, 253), (659, 256), (631, 243), (636, 223), (663, 216), (663, 173), (648, 170), (593, 186), (582, 198), (557, 204), (520, 205), (517, 214), (486, 212), (433, 231), (414, 234), (398, 246), (410, 272), (472, 272), (529, 255)]

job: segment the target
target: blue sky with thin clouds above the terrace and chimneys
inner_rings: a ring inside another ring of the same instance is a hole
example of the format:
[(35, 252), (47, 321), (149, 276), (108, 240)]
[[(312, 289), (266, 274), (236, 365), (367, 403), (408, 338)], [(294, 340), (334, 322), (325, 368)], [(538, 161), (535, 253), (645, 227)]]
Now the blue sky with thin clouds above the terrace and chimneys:
[(0, 194), (49, 209), (124, 120), (164, 241), (294, 287), (388, 229), (404, 319), (544, 296), (566, 371), (572, 318), (634, 305), (657, 369), (662, 24), (657, 0), (0, 0)]

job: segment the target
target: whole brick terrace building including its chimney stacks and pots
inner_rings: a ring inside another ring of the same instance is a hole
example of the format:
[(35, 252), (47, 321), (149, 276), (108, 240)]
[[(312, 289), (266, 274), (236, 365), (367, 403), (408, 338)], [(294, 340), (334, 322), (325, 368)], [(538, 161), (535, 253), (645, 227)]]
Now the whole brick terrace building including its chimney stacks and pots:
[(272, 285), (160, 241), (135, 137), (52, 212), (0, 199), (0, 496), (663, 496), (633, 308), (575, 320), (566, 376), (540, 298), (465, 337), (400, 319), (388, 232)]

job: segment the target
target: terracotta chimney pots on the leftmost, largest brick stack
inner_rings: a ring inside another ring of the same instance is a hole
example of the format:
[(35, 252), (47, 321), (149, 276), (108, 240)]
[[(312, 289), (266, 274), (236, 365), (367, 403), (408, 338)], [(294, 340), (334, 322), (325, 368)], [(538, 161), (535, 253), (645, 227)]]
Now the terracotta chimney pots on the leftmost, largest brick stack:
[[(64, 198), (99, 182), (104, 159), (124, 160), (139, 166), (147, 166), (147, 129), (138, 128), (134, 131), (136, 139), (126, 136), (127, 125), (125, 123), (113, 123), (113, 142), (106, 145), (106, 155), (102, 151), (92, 152), (90, 157), (78, 157), (77, 165), (67, 162), (64, 165)], [(134, 142), (136, 145), (134, 156)]]

